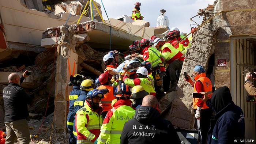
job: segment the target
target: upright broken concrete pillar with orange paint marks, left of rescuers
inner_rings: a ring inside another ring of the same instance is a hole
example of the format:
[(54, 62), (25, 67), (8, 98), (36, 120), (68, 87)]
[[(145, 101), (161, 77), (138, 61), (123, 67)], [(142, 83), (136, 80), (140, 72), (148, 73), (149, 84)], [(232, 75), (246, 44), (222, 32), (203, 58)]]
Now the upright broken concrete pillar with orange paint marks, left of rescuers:
[(67, 124), (68, 95), (72, 87), (68, 87), (70, 75), (77, 73), (78, 55), (76, 54), (74, 29), (64, 24), (60, 27), (62, 43), (57, 47), (57, 69), (55, 90), (54, 126), (64, 131)]

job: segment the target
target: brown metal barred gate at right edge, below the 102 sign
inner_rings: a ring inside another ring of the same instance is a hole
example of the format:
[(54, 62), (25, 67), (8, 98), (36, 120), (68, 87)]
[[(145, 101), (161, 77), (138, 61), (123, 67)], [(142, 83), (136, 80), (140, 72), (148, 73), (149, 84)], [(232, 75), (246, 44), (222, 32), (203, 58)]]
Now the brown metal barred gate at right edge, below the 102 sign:
[[(234, 103), (240, 106), (245, 117), (245, 139), (255, 140), (255, 103), (246, 102), (249, 95), (245, 88), (242, 71), (256, 72), (256, 36), (230, 37), (230, 79), (231, 95)], [(255, 81), (253, 82), (255, 84)]]

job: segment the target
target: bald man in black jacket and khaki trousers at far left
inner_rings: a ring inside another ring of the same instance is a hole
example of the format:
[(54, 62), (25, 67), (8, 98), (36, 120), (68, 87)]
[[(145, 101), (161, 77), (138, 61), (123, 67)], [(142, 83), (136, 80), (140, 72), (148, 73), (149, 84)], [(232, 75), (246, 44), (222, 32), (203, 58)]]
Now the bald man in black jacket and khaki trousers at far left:
[(29, 125), (26, 118), (29, 116), (27, 104), (32, 103), (32, 98), (24, 91), (20, 84), (23, 82), (27, 71), (21, 77), (17, 73), (8, 76), (8, 85), (3, 89), (6, 139), (5, 144), (14, 144), (17, 138), (20, 144), (29, 144)]

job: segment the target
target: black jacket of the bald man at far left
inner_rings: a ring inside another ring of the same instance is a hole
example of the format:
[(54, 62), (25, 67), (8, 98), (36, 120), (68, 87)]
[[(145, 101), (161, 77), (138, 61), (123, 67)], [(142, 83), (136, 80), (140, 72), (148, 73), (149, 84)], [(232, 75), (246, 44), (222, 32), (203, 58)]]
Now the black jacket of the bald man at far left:
[[(20, 78), (22, 83), (24, 77)], [(21, 120), (29, 116), (27, 104), (32, 102), (32, 98), (26, 94), (24, 89), (18, 84), (9, 83), (3, 89), (5, 122)]]

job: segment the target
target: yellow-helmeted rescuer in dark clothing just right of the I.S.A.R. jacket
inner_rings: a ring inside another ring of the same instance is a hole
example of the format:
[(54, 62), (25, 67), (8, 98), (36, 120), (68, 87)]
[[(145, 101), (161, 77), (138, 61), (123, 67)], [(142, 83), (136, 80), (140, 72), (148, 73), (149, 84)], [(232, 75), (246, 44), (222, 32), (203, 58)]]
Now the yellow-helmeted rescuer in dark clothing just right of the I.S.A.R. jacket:
[(134, 86), (132, 87), (132, 107), (139, 107), (142, 105), (142, 100), (144, 96), (148, 95), (148, 92), (145, 91), (145, 89), (142, 86)]

